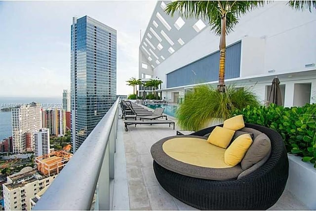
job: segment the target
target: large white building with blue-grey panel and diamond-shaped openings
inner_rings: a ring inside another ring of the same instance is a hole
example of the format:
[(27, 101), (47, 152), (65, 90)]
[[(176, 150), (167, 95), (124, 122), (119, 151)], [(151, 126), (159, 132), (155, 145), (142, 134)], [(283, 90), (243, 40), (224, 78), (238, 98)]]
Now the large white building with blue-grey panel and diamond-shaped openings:
[[(162, 98), (177, 103), (197, 84), (217, 85), (219, 36), (203, 20), (167, 15), (169, 2), (158, 1), (142, 38), (139, 77), (162, 80)], [(226, 36), (226, 85), (251, 87), (264, 104), (277, 76), (284, 106), (316, 103), (315, 37), (315, 11), (275, 1), (246, 13)]]

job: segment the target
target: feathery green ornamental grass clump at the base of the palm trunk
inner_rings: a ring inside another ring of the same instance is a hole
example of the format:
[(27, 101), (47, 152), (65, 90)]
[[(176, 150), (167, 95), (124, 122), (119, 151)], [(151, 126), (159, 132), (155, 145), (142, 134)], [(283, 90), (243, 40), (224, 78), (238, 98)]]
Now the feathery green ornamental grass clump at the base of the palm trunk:
[(217, 88), (201, 85), (186, 93), (176, 115), (180, 127), (197, 131), (216, 118), (230, 118), (237, 108), (242, 109), (247, 105), (259, 106), (257, 96), (249, 89), (229, 86), (224, 93), (220, 93)]

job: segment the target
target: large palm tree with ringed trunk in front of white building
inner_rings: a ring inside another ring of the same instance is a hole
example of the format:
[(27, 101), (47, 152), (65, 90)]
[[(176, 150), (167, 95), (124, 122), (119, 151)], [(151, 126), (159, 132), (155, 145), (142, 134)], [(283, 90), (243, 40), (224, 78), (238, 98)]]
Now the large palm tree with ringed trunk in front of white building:
[(264, 1), (173, 1), (167, 4), (165, 12), (174, 15), (179, 11), (185, 18), (203, 18), (209, 22), (211, 30), (220, 36), (218, 90), (225, 91), (226, 35), (233, 31), (238, 18), (253, 8), (264, 5)]

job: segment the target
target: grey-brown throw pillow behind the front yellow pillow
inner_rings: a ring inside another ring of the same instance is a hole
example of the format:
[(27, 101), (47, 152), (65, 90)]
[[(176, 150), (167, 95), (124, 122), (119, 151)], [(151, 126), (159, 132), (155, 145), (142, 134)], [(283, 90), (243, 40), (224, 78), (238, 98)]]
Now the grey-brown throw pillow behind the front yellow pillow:
[(266, 134), (259, 134), (252, 142), (241, 161), (241, 168), (246, 170), (267, 156), (271, 150), (271, 141)]

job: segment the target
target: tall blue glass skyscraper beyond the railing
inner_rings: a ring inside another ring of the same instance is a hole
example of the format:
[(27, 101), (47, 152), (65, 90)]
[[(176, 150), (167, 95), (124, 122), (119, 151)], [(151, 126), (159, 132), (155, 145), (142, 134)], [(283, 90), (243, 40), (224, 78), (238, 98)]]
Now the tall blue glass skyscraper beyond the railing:
[(117, 31), (88, 16), (71, 26), (71, 133), (74, 152), (116, 100)]

